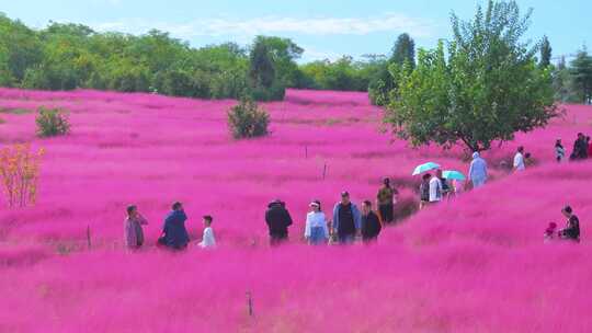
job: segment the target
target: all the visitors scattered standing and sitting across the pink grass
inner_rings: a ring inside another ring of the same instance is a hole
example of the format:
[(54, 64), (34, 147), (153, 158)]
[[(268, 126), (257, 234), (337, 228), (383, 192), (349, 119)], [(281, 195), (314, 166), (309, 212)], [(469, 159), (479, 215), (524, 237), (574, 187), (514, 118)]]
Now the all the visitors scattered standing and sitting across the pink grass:
[[(561, 140), (555, 143), (555, 156), (558, 162), (562, 162), (566, 157), (566, 149)], [(573, 143), (573, 151), (570, 160), (584, 160), (592, 156), (592, 145), (590, 137), (578, 134)], [(532, 164), (532, 156), (525, 152), (524, 147), (519, 147), (513, 158), (512, 169), (514, 172), (522, 172)], [(488, 181), (488, 164), (479, 152), (473, 153), (469, 165), (468, 181), (473, 188), (483, 186)], [(451, 182), (443, 176), (443, 172), (436, 169), (434, 174), (424, 173), (419, 186), (420, 209), (435, 205), (444, 198), (457, 192), (456, 182)], [(350, 193), (342, 192), (341, 199), (334, 205), (332, 214), (328, 217), (321, 208), (319, 200), (309, 204), (309, 213), (306, 216), (304, 239), (308, 244), (351, 244), (360, 239), (363, 243), (372, 243), (378, 239), (383, 226), (395, 221), (395, 204), (399, 192), (395, 188), (390, 179), (384, 179), (382, 187), (376, 195), (376, 209), (371, 200), (364, 200), (361, 209), (352, 203)], [(557, 231), (557, 223), (549, 223), (545, 231), (545, 240), (567, 239), (579, 242), (580, 223), (570, 206), (563, 207), (561, 213), (568, 218), (565, 229)], [(172, 250), (183, 250), (190, 243), (190, 237), (185, 227), (187, 216), (181, 203), (174, 203), (171, 211), (164, 218), (162, 233), (158, 238), (157, 244)], [(216, 238), (212, 228), (213, 217), (203, 216), (204, 231), (202, 240), (197, 243), (203, 249), (216, 246)], [(267, 205), (265, 211), (265, 222), (270, 236), (270, 244), (276, 246), (288, 239), (288, 228), (293, 225), (292, 216), (286, 208), (285, 202), (275, 199)], [(148, 221), (138, 211), (136, 206), (127, 207), (125, 219), (125, 241), (129, 249), (139, 249), (145, 243), (143, 226)]]

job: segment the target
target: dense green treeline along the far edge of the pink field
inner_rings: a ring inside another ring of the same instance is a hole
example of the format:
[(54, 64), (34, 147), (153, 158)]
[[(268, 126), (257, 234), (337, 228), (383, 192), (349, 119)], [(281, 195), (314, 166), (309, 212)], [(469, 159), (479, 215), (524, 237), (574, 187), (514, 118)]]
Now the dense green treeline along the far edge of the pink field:
[[(414, 47), (402, 34), (389, 56), (298, 65), (304, 49), (288, 38), (258, 36), (248, 47), (194, 48), (156, 30), (140, 36), (99, 33), (80, 24), (33, 30), (0, 13), (0, 85), (260, 101), (283, 99), (285, 88), (368, 91), (373, 103), (386, 105), (396, 89), (392, 65), (414, 67)], [(545, 57), (542, 61), (548, 62), (550, 46)], [(563, 61), (555, 70), (557, 99), (590, 101), (592, 59), (584, 49), (570, 65)]]

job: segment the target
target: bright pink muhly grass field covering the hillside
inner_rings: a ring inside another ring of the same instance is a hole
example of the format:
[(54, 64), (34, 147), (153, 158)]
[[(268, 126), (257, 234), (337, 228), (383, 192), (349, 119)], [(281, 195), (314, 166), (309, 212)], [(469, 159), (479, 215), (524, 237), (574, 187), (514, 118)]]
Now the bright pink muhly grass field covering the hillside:
[[(387, 228), (373, 246), (301, 242), (308, 203), (331, 211), (339, 193), (374, 199), (391, 176), (417, 200), (414, 165), (467, 172), (460, 149), (392, 140), (364, 93), (288, 91), (264, 104), (271, 136), (236, 141), (235, 101), (98, 91), (0, 90), (0, 143), (43, 147), (38, 202), (0, 213), (0, 332), (590, 332), (592, 164), (554, 160), (592, 133), (592, 107), (565, 106), (547, 128), (485, 153), (485, 188)], [(35, 137), (37, 106), (70, 112), (72, 133)], [(536, 165), (500, 166), (524, 145)], [(327, 164), (326, 179), (322, 179)], [(295, 220), (289, 244), (267, 246), (263, 215), (282, 198)], [(219, 246), (182, 254), (153, 243), (174, 200), (192, 239), (214, 216)], [(123, 249), (125, 207), (150, 225), (140, 253)], [(563, 205), (582, 242), (543, 243)], [(90, 227), (92, 249), (87, 249)], [(254, 315), (249, 317), (247, 292)]]

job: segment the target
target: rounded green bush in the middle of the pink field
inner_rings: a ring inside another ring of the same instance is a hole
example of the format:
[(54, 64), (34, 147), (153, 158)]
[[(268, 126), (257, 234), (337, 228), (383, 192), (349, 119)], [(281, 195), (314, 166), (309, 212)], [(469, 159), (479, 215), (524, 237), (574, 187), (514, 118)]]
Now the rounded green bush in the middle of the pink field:
[(250, 99), (228, 111), (228, 127), (235, 139), (254, 138), (267, 135), (270, 115)]

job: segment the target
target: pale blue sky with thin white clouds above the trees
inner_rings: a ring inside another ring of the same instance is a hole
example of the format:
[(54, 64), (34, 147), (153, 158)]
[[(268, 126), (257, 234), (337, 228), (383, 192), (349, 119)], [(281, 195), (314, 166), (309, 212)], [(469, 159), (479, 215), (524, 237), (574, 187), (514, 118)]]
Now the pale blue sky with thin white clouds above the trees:
[[(547, 35), (554, 56), (592, 43), (591, 0), (517, 0), (534, 9), (527, 38)], [(305, 49), (301, 61), (342, 55), (387, 55), (397, 36), (409, 33), (418, 47), (449, 38), (449, 16), (471, 19), (476, 0), (0, 0), (0, 12), (33, 27), (49, 21), (82, 23), (96, 31), (169, 32), (192, 46), (236, 42), (255, 35), (292, 38)]]

